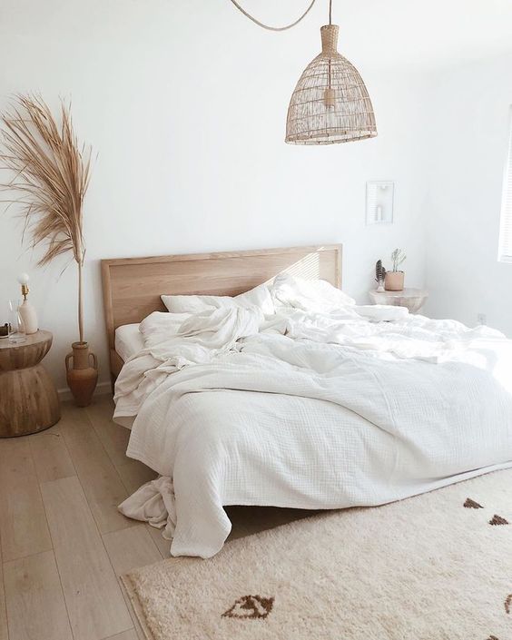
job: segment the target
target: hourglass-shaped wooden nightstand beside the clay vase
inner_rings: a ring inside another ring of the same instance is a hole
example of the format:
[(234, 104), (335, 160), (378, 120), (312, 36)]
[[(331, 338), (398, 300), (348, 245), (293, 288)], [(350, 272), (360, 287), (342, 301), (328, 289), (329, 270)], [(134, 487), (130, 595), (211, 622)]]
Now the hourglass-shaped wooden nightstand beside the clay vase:
[(52, 334), (43, 330), (25, 342), (0, 340), (0, 438), (42, 431), (60, 419), (57, 389), (40, 364), (51, 346)]

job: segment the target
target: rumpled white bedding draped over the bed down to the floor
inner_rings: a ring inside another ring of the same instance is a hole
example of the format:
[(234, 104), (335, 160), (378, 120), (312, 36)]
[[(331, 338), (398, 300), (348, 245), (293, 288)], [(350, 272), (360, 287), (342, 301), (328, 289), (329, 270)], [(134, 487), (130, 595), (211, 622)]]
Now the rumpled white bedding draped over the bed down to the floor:
[(404, 313), (149, 316), (114, 419), (134, 417), (127, 455), (162, 478), (123, 513), (164, 527), (173, 556), (209, 557), (224, 505), (380, 505), (510, 466), (512, 343)]

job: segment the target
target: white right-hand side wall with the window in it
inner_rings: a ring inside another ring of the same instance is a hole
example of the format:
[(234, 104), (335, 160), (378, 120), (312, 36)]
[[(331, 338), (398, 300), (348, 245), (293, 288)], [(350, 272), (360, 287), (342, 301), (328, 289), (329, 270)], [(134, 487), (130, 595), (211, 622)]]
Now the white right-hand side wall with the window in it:
[(512, 335), (512, 264), (497, 261), (507, 156), (512, 55), (431, 78), (428, 139), (427, 312)]

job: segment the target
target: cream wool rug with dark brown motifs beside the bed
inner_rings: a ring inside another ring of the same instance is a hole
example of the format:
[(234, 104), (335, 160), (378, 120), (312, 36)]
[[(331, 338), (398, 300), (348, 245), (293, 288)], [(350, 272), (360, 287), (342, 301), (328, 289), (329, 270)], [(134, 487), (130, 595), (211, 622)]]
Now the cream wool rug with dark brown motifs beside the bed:
[(123, 577), (150, 640), (512, 640), (512, 470)]

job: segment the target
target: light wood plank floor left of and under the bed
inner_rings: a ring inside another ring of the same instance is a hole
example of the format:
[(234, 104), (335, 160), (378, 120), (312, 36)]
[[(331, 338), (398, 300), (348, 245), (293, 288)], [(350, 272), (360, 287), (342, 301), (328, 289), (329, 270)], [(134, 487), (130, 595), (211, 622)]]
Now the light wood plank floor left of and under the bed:
[[(119, 576), (169, 556), (117, 505), (156, 474), (126, 458), (113, 401), (64, 404), (53, 428), (0, 439), (0, 640), (143, 640)], [(231, 538), (310, 515), (229, 507)]]

